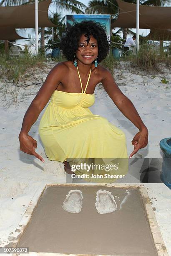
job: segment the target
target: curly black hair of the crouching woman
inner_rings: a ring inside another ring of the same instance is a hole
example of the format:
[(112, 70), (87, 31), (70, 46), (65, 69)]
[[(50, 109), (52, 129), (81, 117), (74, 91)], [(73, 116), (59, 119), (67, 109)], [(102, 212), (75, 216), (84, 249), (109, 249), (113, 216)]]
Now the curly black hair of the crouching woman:
[(98, 42), (98, 63), (101, 62), (108, 54), (109, 40), (107, 38), (105, 26), (93, 20), (83, 20), (75, 23), (69, 28), (66, 34), (61, 38), (60, 49), (69, 61), (74, 61), (76, 50), (79, 47), (79, 41), (82, 34), (90, 41), (92, 35)]

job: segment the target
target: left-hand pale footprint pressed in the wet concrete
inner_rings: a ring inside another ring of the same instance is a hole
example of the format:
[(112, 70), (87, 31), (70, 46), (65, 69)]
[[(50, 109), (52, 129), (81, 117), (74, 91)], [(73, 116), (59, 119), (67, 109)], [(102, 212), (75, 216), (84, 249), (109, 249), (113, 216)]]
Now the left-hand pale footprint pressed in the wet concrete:
[(83, 205), (82, 191), (78, 189), (70, 190), (63, 202), (63, 209), (67, 212), (79, 213)]

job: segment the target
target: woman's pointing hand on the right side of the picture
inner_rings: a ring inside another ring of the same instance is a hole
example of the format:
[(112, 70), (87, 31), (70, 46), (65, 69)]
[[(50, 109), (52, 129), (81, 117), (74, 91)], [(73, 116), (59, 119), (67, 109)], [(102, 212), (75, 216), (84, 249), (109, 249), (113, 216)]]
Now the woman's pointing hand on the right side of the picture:
[(144, 148), (147, 146), (148, 144), (147, 128), (136, 133), (136, 135), (133, 137), (133, 140), (131, 142), (132, 142), (132, 145), (134, 146), (134, 150), (130, 154), (129, 158), (131, 158), (134, 154), (136, 154), (140, 148)]

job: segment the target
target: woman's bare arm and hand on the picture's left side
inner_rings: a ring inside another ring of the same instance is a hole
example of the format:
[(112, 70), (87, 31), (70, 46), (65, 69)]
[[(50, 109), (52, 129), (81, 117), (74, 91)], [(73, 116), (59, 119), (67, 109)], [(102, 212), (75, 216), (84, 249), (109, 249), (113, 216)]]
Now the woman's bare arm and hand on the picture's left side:
[(44, 84), (38, 91), (38, 94), (31, 102), (23, 118), (22, 128), (18, 137), (20, 141), (20, 150), (27, 154), (36, 156), (41, 161), (44, 161), (43, 158), (35, 152), (37, 142), (28, 135), (28, 132), (30, 131), (30, 128), (35, 123), (35, 121), (38, 119), (40, 112), (48, 103), (51, 95), (58, 86), (60, 79), (67, 71), (66, 69), (67, 67), (63, 63), (59, 63), (53, 67), (53, 69), (46, 77)]

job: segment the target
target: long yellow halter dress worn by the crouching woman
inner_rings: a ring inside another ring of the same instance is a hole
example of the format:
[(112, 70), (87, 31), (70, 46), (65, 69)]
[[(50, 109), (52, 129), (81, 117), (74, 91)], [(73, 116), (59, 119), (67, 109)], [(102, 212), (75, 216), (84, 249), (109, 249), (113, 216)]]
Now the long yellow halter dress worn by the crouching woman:
[[(77, 67), (78, 70), (78, 67)], [(78, 71), (80, 78), (80, 74)], [(91, 71), (85, 90), (88, 86)], [(128, 159), (126, 136), (106, 118), (94, 115), (89, 107), (95, 102), (94, 94), (70, 93), (55, 90), (40, 120), (39, 134), (49, 160), (68, 161), (70, 165), (82, 159)], [(91, 161), (92, 162), (92, 161)], [(105, 162), (105, 161), (103, 161)], [(126, 168), (122, 173), (128, 171)], [(76, 170), (75, 174), (87, 174)], [(89, 174), (96, 173), (94, 170)], [(114, 173), (114, 171), (110, 171)], [(101, 171), (101, 174), (104, 172)], [(115, 179), (113, 179), (115, 180)], [(111, 182), (108, 179), (105, 182)], [(96, 182), (102, 182), (96, 179)]]

